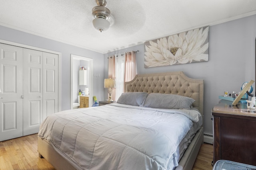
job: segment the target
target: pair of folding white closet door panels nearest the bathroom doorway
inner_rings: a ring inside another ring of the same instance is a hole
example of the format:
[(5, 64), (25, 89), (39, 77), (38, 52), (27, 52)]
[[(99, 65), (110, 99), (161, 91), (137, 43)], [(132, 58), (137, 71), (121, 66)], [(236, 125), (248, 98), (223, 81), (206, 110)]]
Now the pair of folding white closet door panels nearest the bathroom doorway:
[(58, 111), (58, 55), (23, 50), (23, 135), (38, 133), (40, 123)]

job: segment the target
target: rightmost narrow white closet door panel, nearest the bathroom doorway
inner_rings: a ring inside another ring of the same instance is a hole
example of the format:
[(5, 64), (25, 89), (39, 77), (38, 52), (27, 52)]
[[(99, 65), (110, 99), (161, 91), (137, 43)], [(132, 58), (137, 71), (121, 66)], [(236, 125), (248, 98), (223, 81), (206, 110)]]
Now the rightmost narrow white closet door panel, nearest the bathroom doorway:
[(58, 55), (43, 53), (43, 120), (58, 112)]

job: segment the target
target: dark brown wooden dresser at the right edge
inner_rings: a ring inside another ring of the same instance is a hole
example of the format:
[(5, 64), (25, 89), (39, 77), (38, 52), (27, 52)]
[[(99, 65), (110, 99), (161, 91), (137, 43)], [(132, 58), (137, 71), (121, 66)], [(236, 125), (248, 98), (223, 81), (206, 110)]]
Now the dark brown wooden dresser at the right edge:
[(256, 166), (256, 112), (227, 100), (212, 108), (214, 159)]

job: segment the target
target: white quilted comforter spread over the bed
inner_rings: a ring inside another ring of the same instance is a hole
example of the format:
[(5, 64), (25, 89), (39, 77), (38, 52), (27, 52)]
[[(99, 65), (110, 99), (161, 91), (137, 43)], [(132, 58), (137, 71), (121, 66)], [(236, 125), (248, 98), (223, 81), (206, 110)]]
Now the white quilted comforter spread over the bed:
[(38, 136), (80, 170), (172, 170), (180, 141), (200, 116), (109, 104), (50, 115)]

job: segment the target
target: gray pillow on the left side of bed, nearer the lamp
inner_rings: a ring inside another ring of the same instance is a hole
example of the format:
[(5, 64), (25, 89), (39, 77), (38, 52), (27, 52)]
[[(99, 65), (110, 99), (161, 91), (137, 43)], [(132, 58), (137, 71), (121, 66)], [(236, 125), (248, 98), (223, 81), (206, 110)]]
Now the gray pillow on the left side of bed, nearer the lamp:
[(148, 94), (146, 92), (128, 92), (122, 93), (116, 103), (127, 104), (132, 106), (141, 106)]

